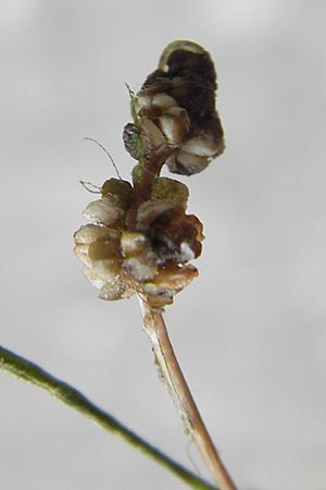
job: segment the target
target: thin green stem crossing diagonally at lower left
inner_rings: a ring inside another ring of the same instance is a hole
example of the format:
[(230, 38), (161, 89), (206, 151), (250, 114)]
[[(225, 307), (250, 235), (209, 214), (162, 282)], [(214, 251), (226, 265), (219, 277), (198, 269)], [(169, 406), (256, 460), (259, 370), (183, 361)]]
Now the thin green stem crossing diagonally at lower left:
[[(142, 451), (147, 456), (163, 465), (166, 469), (178, 476), (191, 488), (200, 490), (216, 490), (215, 487), (203, 481), (191, 471), (166, 456), (160, 450), (127, 429), (112, 415), (97, 407), (84, 394), (64, 381), (54, 378), (36, 364), (14, 354), (0, 345), (0, 369), (15, 378), (46, 390), (51, 395), (76, 409), (98, 426), (109, 432), (120, 436), (134, 448)], [(218, 489), (217, 489), (218, 490)]]

